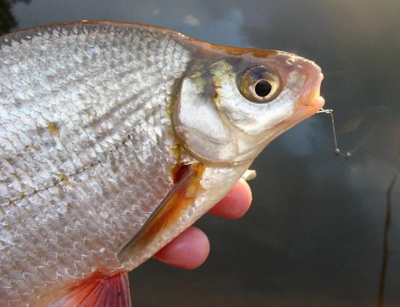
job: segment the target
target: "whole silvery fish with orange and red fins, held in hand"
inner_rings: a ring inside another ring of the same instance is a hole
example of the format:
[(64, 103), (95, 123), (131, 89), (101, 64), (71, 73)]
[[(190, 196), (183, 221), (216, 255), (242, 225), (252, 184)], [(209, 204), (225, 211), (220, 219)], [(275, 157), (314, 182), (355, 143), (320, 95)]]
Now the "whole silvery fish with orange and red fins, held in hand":
[(321, 68), (142, 24), (0, 38), (0, 306), (128, 307), (127, 273), (323, 105)]

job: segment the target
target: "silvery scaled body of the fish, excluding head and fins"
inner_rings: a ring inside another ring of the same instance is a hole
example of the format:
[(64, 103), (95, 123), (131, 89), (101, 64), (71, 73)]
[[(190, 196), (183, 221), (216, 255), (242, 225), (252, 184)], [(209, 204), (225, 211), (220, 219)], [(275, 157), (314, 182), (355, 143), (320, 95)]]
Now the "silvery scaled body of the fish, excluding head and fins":
[(168, 110), (190, 60), (177, 35), (141, 26), (0, 39), (1, 306), (124, 265), (117, 248), (172, 186)]

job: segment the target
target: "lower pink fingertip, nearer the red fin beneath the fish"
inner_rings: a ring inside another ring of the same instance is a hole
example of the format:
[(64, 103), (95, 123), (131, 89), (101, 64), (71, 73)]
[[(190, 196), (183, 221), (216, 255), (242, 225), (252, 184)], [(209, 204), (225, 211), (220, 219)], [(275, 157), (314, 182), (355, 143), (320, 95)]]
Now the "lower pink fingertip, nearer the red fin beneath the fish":
[(210, 243), (206, 234), (191, 226), (153, 257), (182, 269), (195, 269), (206, 260), (209, 252)]

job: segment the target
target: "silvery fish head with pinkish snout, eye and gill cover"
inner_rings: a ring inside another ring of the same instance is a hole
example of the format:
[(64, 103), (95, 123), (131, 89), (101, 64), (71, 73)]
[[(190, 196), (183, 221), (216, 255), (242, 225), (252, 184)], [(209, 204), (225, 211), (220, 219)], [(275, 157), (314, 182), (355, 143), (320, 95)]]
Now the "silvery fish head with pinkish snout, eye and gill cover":
[(172, 123), (201, 162), (239, 164), (323, 105), (320, 67), (282, 51), (198, 59), (179, 84)]

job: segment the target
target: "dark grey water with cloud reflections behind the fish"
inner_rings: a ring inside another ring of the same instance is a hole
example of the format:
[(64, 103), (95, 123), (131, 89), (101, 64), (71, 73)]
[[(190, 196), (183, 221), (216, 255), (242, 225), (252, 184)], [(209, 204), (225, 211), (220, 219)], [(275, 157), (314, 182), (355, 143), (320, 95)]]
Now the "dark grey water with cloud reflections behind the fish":
[(0, 1), (3, 32), (94, 19), (312, 59), (340, 149), (365, 140), (334, 156), (325, 114), (282, 135), (254, 162), (248, 214), (197, 223), (206, 263), (147, 261), (130, 275), (133, 306), (379, 306), (380, 289), (381, 306), (400, 306), (400, 1)]

